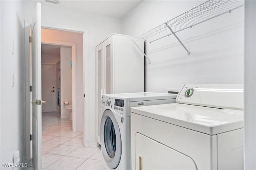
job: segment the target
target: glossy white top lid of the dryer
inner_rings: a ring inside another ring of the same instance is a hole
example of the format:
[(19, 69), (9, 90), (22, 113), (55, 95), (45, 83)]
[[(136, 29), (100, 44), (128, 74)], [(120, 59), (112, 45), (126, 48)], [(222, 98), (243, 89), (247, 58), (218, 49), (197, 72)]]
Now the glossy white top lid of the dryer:
[(187, 104), (162, 104), (132, 107), (137, 113), (181, 127), (215, 135), (244, 127), (244, 112)]

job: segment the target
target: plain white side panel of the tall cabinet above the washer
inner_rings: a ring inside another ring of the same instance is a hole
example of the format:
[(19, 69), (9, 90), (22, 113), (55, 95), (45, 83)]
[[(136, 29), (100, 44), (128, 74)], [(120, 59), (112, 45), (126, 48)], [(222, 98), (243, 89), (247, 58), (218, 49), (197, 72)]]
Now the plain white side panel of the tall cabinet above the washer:
[[(144, 42), (138, 45), (144, 49)], [(114, 35), (114, 93), (144, 92), (144, 55), (132, 37)]]

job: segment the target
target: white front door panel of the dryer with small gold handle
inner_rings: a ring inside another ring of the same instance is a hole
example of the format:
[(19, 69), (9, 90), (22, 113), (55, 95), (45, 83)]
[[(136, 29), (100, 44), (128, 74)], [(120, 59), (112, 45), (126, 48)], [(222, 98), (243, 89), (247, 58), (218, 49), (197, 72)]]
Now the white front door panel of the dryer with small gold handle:
[(189, 156), (140, 133), (135, 135), (136, 170), (197, 170)]

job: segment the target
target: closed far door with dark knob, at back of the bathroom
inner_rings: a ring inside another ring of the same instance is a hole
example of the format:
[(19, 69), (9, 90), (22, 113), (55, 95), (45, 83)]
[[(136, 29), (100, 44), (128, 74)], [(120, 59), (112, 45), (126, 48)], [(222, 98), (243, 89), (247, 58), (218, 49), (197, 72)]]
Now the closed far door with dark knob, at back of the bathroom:
[(42, 63), (42, 99), (47, 101), (42, 105), (42, 113), (56, 111), (56, 95), (56, 64)]

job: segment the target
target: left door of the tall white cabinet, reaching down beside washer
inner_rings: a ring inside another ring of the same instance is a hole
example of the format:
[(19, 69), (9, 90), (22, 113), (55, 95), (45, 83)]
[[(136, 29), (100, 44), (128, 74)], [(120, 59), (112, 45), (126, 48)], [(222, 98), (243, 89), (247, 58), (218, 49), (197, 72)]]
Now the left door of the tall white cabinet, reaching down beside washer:
[(101, 99), (105, 94), (105, 51), (104, 43), (96, 47), (96, 132), (97, 142), (100, 144)]

